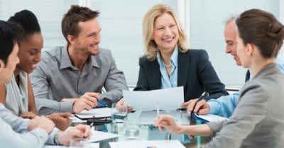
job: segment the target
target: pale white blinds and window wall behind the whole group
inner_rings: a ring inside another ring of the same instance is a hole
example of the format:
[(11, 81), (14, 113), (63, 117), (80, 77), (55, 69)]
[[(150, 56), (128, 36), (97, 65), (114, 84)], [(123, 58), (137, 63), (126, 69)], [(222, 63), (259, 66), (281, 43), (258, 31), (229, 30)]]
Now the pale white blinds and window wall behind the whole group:
[[(0, 0), (0, 19), (7, 20), (17, 11), (29, 9), (38, 17), (44, 49), (65, 45), (61, 19), (72, 4), (89, 6), (101, 12), (101, 47), (112, 51), (126, 81), (135, 86), (138, 58), (143, 55), (142, 18), (154, 4), (168, 4), (179, 14), (189, 36), (190, 47), (204, 49), (227, 86), (242, 86), (245, 69), (236, 67), (224, 53), (224, 24), (229, 13), (248, 8), (261, 8), (273, 13), (284, 23), (284, 0)], [(284, 55), (282, 51), (282, 55)]]

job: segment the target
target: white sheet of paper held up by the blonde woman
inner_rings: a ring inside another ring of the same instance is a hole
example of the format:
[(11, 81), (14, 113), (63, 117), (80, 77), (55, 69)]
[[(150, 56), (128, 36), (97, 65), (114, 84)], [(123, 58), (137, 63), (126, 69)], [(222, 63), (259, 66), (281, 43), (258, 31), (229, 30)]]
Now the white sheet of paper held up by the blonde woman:
[(126, 105), (136, 110), (175, 110), (183, 103), (183, 86), (153, 91), (123, 91)]

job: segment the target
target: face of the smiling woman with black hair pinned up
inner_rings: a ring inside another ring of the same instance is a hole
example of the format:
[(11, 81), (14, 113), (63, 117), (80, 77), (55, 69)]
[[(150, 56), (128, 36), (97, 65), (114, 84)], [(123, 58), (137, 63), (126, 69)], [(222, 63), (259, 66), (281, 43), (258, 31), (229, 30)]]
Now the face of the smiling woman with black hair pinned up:
[(43, 35), (33, 33), (28, 35), (26, 39), (19, 42), (18, 58), (20, 63), (17, 68), (31, 74), (36, 64), (40, 62), (40, 52), (43, 48)]

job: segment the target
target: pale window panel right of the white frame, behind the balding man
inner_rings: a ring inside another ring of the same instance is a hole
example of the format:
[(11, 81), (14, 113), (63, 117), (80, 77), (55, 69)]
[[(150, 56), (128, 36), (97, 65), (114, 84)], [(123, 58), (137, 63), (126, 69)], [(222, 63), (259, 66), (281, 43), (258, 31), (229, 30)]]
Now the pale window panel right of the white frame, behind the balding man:
[(230, 13), (249, 8), (261, 8), (279, 18), (279, 0), (190, 0), (190, 47), (202, 48), (226, 86), (242, 86), (246, 69), (237, 67), (231, 55), (226, 55), (224, 24)]

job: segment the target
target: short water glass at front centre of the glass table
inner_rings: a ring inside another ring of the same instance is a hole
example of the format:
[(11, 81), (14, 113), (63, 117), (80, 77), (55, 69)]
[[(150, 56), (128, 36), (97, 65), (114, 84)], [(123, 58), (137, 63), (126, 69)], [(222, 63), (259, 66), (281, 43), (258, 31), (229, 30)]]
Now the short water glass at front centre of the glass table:
[(140, 135), (140, 129), (136, 120), (124, 120), (124, 137), (127, 140), (136, 140)]

